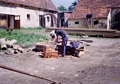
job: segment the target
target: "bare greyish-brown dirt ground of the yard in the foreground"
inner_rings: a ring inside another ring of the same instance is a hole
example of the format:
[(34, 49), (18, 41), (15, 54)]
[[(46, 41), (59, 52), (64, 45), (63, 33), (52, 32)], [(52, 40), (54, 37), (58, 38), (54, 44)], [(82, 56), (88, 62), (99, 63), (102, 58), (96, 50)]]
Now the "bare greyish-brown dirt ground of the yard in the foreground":
[[(65, 56), (43, 59), (34, 51), (15, 55), (1, 53), (0, 64), (61, 84), (120, 84), (120, 38), (86, 39), (93, 40), (93, 43), (85, 46), (80, 58)], [(0, 68), (0, 84), (51, 82)]]

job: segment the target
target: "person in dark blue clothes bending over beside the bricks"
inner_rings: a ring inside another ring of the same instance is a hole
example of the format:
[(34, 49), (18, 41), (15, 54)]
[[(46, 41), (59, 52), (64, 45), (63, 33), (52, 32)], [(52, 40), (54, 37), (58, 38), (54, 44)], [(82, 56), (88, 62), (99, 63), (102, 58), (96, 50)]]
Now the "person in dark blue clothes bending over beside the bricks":
[(65, 30), (53, 30), (50, 32), (51, 40), (54, 44), (60, 43), (59, 36), (62, 37), (62, 57), (66, 54), (66, 45), (68, 42), (68, 33)]

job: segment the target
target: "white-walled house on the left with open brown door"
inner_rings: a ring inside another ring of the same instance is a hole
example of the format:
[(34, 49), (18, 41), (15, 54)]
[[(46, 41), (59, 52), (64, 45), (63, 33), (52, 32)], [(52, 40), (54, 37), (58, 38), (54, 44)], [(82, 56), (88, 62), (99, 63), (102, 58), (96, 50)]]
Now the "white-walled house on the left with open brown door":
[(51, 0), (0, 0), (0, 27), (54, 27), (57, 9)]

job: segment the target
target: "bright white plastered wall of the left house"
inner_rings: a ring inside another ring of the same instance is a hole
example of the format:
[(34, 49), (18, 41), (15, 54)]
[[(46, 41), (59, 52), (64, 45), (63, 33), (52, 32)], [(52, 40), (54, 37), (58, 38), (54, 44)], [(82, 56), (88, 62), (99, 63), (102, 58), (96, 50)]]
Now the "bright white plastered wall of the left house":
[[(38, 27), (39, 25), (39, 15), (44, 15), (43, 11), (22, 8), (19, 6), (5, 6), (0, 4), (0, 13), (10, 14), (10, 15), (20, 15), (20, 25), (21, 27)], [(29, 15), (29, 19), (27, 17)], [(51, 21), (51, 20), (50, 20)], [(50, 26), (50, 22), (46, 22), (46, 26)]]

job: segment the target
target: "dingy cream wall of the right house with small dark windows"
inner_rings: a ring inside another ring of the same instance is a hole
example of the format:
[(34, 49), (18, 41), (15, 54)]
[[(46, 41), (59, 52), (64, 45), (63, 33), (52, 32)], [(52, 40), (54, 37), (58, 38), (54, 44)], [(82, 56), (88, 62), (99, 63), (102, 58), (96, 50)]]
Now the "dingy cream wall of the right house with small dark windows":
[[(68, 27), (69, 28), (102, 28), (102, 29), (107, 29), (107, 19), (97, 19), (97, 20), (92, 19), (89, 21), (92, 21), (92, 24), (90, 23), (88, 26), (88, 25), (86, 25), (87, 23), (86, 23), (85, 19), (68, 20)], [(94, 21), (98, 21), (99, 24), (94, 25)]]

